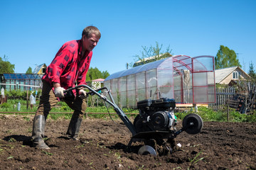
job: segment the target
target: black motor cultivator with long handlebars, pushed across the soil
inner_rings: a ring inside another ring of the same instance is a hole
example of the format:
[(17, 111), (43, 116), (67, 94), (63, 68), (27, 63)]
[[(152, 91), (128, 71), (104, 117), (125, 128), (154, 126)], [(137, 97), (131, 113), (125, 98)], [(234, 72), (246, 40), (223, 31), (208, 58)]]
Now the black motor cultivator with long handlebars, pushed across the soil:
[[(124, 122), (124, 125), (132, 132), (132, 138), (129, 141), (128, 147), (133, 142), (143, 142), (144, 146), (139, 149), (139, 154), (166, 155), (174, 151), (176, 143), (174, 138), (181, 132), (185, 131), (189, 135), (195, 135), (201, 132), (203, 128), (203, 120), (197, 114), (188, 114), (183, 118), (182, 128), (176, 130), (176, 116), (174, 109), (176, 102), (171, 98), (160, 98), (157, 100), (146, 99), (137, 103), (139, 115), (132, 123), (121, 108), (114, 103), (112, 94), (107, 87), (100, 89), (92, 89), (87, 85), (75, 86), (67, 89), (65, 95), (69, 95), (71, 91), (80, 88), (88, 89), (87, 94), (97, 95), (105, 102), (109, 103), (114, 108), (114, 111), (119, 115), (119, 118)], [(100, 91), (105, 91), (104, 95)], [(107, 95), (110, 100), (107, 99)]]

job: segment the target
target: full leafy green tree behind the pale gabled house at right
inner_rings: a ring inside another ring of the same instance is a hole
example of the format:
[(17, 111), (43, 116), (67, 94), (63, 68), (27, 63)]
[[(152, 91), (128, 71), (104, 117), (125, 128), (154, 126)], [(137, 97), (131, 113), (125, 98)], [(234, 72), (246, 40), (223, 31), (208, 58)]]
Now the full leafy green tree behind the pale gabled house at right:
[(215, 57), (215, 69), (223, 69), (226, 67), (239, 66), (240, 62), (237, 59), (237, 55), (234, 50), (230, 50), (224, 45), (220, 45), (217, 56)]

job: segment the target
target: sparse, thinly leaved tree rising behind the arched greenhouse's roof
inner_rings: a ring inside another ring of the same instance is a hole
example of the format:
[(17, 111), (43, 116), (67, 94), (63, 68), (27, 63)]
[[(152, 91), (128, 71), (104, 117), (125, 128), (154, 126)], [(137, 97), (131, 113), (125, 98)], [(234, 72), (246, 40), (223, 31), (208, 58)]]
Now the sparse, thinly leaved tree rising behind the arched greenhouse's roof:
[(166, 48), (165, 52), (162, 51), (163, 45), (159, 46), (159, 43), (156, 42), (156, 47), (146, 47), (142, 46), (142, 56), (135, 55), (134, 63), (131, 62), (129, 67), (137, 67), (142, 64), (146, 64), (149, 62), (155, 62), (156, 60), (162, 60), (166, 57), (171, 57), (171, 50), (169, 47)]

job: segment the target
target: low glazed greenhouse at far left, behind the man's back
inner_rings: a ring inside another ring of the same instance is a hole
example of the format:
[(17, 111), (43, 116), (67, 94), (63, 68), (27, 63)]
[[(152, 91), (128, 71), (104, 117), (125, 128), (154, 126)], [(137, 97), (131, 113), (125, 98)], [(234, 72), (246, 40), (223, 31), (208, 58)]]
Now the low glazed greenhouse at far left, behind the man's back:
[(0, 74), (0, 88), (11, 90), (36, 90), (41, 88), (43, 74)]

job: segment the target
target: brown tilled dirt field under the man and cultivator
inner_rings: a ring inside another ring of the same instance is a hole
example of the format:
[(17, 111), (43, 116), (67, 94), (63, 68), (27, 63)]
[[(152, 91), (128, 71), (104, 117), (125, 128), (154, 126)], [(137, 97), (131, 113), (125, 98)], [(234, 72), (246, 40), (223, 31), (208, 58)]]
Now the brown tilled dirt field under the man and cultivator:
[[(198, 135), (176, 137), (174, 154), (139, 155), (118, 121), (85, 119), (82, 142), (67, 140), (69, 120), (47, 120), (50, 150), (31, 147), (31, 116), (0, 115), (0, 169), (256, 169), (256, 123), (205, 122)], [(181, 122), (179, 124), (181, 126)]]

